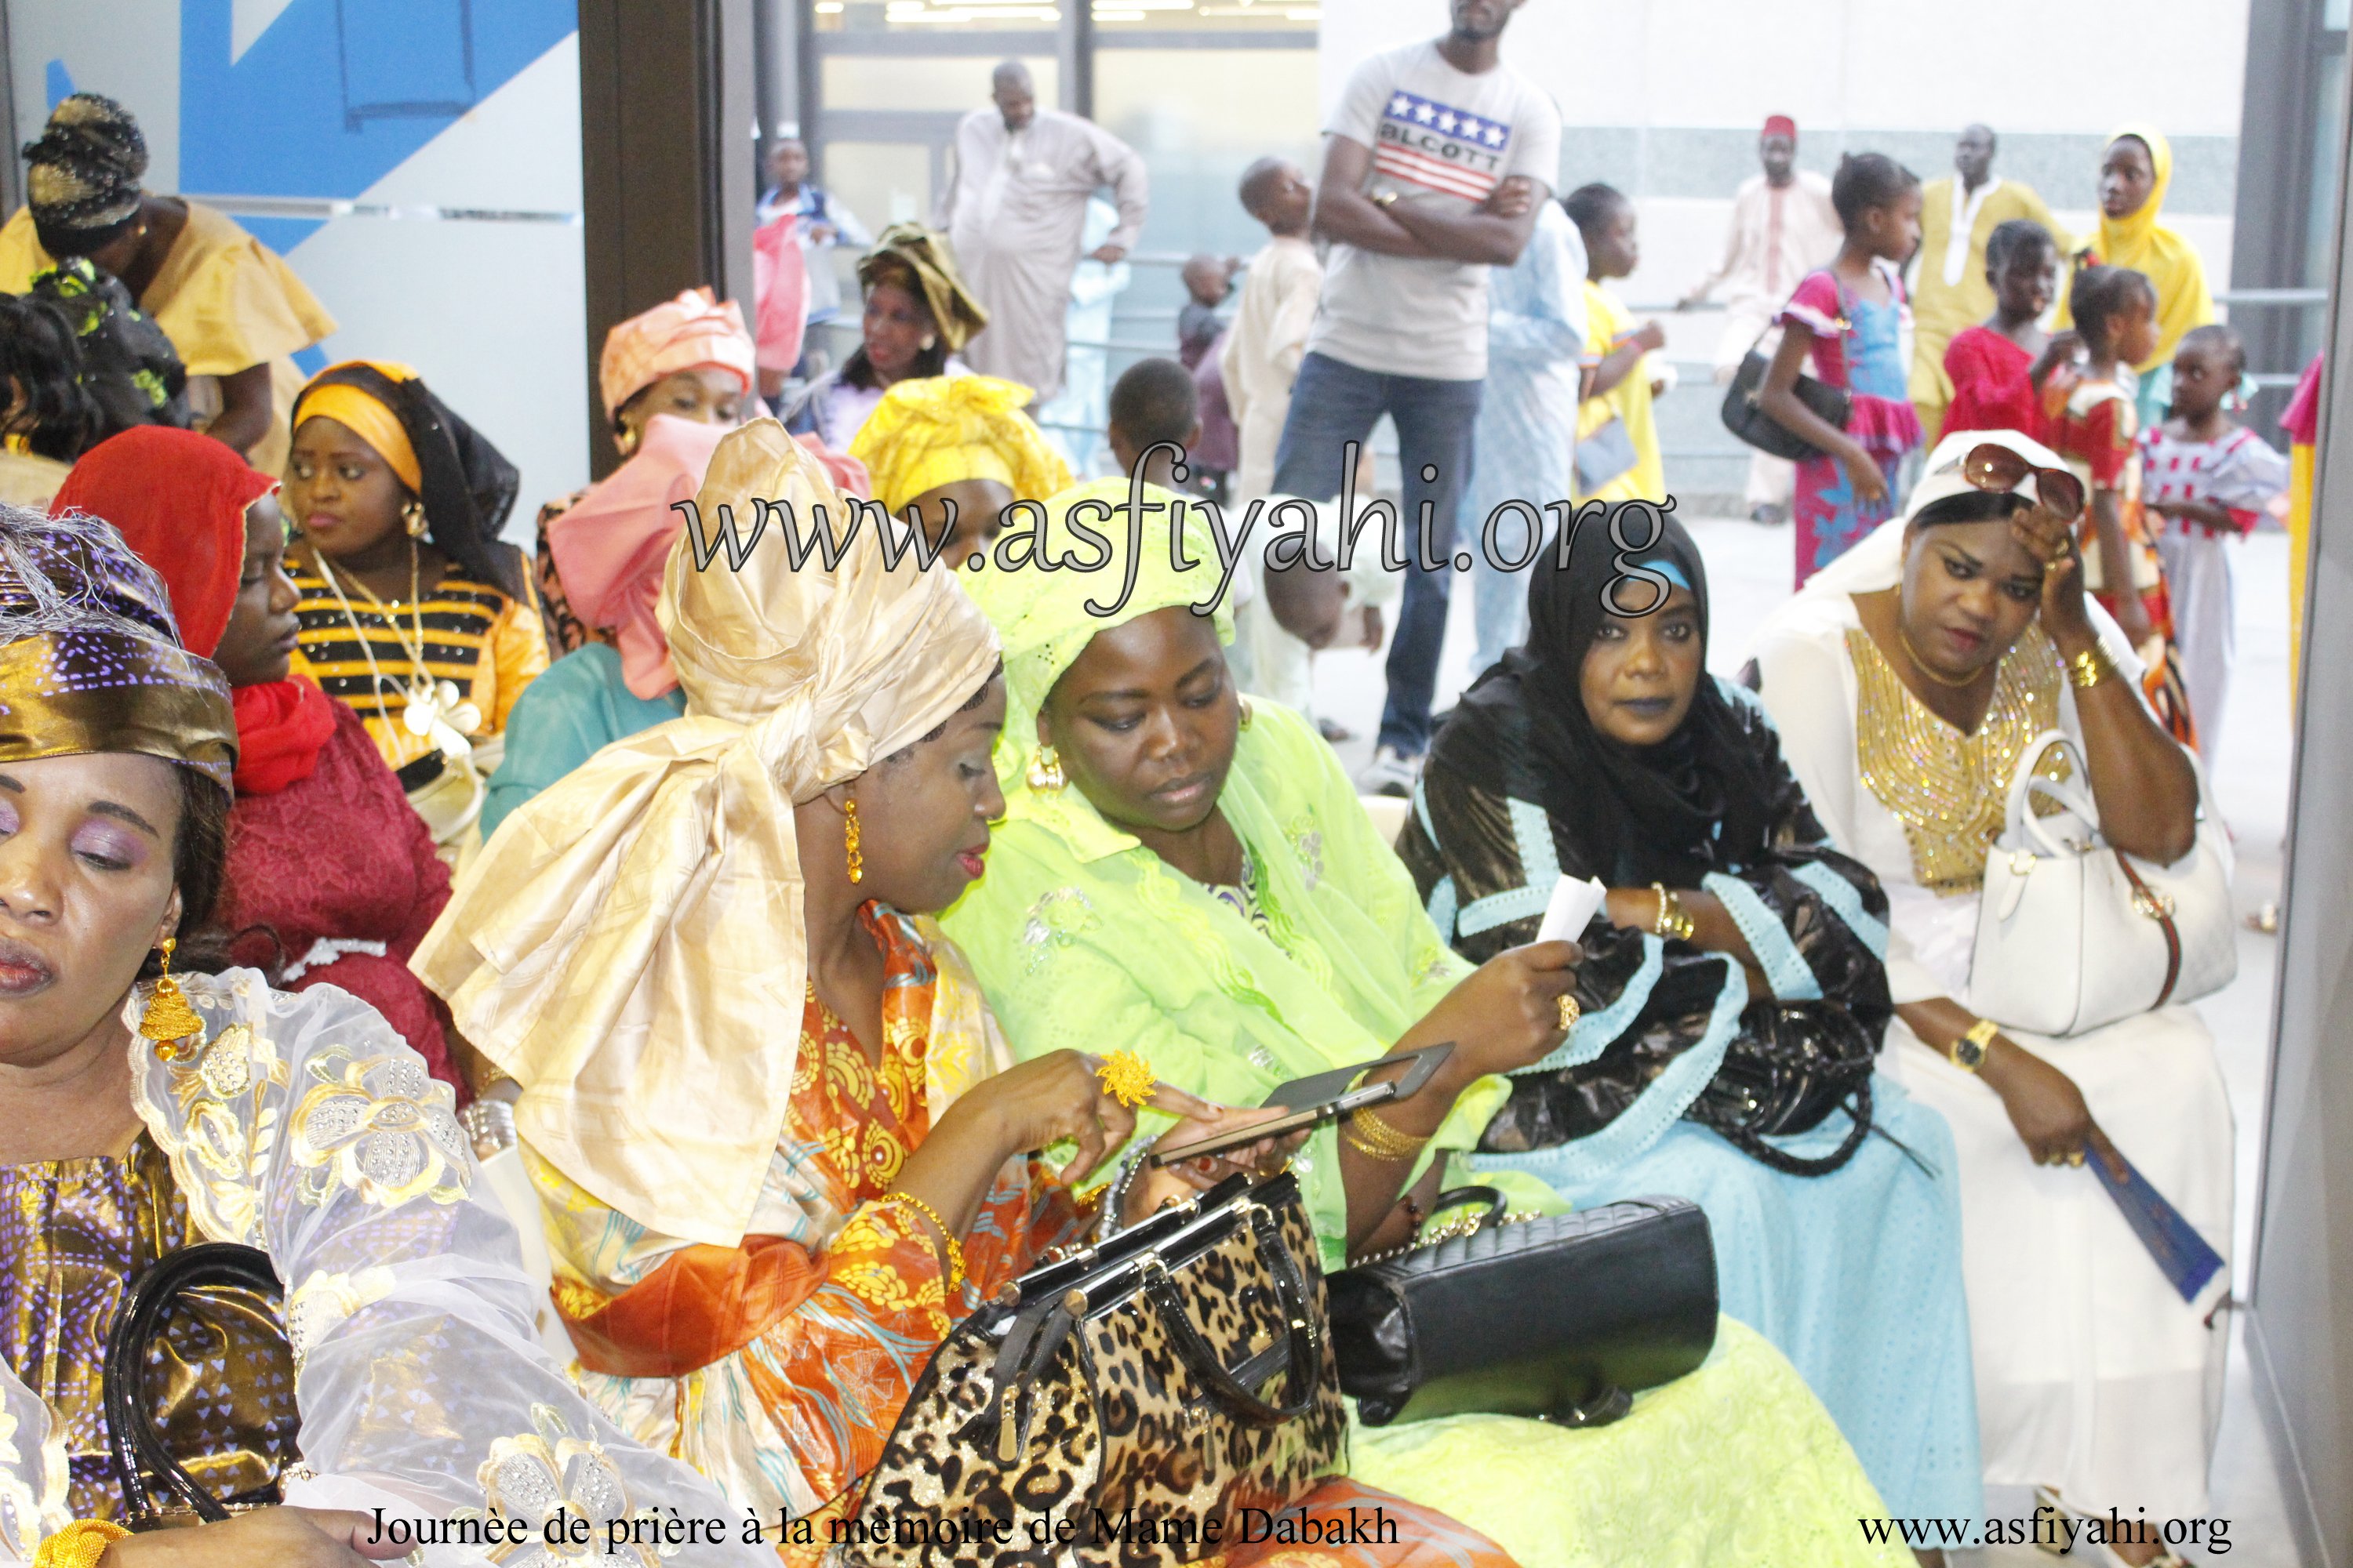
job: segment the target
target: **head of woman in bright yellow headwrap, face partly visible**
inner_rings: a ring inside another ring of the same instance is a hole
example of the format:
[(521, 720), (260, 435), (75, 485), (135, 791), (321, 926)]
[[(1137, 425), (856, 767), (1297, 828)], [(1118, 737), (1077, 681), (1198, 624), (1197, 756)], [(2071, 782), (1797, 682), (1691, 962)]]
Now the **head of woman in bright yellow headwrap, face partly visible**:
[(922, 517), (925, 538), (962, 564), (998, 536), (1014, 501), (1047, 501), (1071, 487), (1071, 468), (1021, 411), (1031, 390), (995, 376), (901, 381), (849, 442), (892, 515)]

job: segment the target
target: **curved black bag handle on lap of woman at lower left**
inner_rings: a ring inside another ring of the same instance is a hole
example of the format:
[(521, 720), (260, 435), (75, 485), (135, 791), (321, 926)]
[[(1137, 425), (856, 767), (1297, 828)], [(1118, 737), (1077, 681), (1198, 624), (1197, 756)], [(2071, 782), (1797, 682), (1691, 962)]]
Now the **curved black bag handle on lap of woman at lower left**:
[[(165, 1321), (191, 1293), (221, 1288), (271, 1302), (285, 1300), (285, 1286), (278, 1284), (268, 1253), (235, 1241), (200, 1241), (165, 1253), (141, 1269), (106, 1335), (106, 1441), (115, 1481), (122, 1486), (122, 1523), (132, 1530), (221, 1523), (231, 1514), (282, 1500), (275, 1479), (259, 1490), (214, 1497), (172, 1455), (148, 1401), (148, 1349), (162, 1335)], [(153, 1500), (158, 1490), (176, 1507), (158, 1507)]]

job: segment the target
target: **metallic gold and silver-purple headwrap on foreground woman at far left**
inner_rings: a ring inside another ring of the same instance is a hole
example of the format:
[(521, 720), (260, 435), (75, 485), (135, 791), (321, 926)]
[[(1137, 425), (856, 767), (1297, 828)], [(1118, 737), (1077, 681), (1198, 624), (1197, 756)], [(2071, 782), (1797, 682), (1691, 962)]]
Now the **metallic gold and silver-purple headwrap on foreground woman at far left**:
[(85, 752), (146, 752), (231, 790), (228, 682), (179, 646), (162, 578), (113, 524), (0, 508), (0, 764)]

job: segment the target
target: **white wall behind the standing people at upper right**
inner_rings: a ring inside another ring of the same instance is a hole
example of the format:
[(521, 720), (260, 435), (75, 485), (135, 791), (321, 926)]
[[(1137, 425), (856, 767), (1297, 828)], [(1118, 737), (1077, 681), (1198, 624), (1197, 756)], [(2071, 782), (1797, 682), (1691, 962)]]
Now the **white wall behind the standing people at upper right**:
[[(1442, 0), (1329, 0), (1325, 103), (1365, 54), (1445, 26)], [(2153, 115), (2181, 162), (2169, 221), (2224, 287), (2245, 49), (2247, 0), (1527, 0), (1504, 33), (1504, 61), (1560, 103), (1565, 179), (1635, 197), (1640, 301), (1708, 270), (1772, 113), (1798, 120), (1805, 167), (1880, 148), (1922, 179), (1948, 174), (1951, 136), (1984, 120), (2002, 136), (1995, 172), (2028, 169), (2078, 230), (2099, 141)]]

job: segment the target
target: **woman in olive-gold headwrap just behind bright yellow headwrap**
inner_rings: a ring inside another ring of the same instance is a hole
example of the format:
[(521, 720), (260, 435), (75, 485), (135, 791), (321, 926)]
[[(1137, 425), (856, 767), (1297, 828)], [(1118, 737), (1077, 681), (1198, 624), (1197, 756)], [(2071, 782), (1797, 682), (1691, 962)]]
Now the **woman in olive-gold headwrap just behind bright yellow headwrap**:
[(899, 381), (969, 376), (955, 355), (988, 310), (955, 270), (948, 237), (922, 223), (892, 223), (859, 261), (866, 317), (856, 350), (784, 409), (784, 428), (849, 451), (859, 425)]

